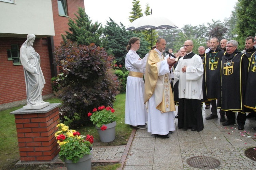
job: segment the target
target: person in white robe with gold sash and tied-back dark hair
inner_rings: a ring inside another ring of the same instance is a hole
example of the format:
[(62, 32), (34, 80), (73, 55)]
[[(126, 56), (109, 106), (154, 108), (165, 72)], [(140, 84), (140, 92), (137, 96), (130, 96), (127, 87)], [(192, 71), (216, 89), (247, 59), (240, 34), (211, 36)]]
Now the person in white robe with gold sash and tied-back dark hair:
[(125, 97), (125, 124), (130, 124), (138, 129), (146, 129), (146, 107), (144, 104), (143, 74), (147, 56), (140, 58), (136, 51), (140, 48), (140, 39), (132, 37), (126, 49), (125, 68), (129, 70), (126, 83)]

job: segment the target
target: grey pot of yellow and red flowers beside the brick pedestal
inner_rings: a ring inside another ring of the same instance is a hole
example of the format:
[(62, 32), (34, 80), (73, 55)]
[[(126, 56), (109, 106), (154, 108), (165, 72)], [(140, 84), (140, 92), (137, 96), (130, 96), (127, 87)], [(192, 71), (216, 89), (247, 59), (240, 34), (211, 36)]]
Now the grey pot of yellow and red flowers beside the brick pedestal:
[(63, 123), (57, 124), (57, 127), (55, 137), (60, 147), (59, 157), (65, 162), (67, 169), (91, 169), (93, 136), (82, 136)]

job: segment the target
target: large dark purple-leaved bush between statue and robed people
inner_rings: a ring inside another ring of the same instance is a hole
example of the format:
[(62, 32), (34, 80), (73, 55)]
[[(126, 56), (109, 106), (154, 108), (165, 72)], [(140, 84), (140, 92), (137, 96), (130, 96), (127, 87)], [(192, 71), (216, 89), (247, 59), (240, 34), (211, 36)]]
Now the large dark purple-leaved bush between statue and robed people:
[(119, 94), (118, 79), (111, 73), (112, 56), (103, 48), (77, 45), (67, 40), (55, 49), (56, 65), (61, 74), (57, 96), (62, 99), (61, 121), (75, 120), (79, 116), (83, 124), (91, 124), (87, 116), (96, 106), (113, 107)]

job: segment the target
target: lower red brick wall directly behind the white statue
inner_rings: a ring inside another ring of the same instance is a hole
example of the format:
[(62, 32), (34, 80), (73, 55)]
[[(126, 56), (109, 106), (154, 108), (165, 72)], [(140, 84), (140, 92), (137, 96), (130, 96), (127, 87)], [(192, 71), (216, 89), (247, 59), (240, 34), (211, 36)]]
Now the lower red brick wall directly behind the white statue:
[[(11, 44), (18, 44), (20, 48), (25, 41), (26, 38), (0, 37), (0, 104), (24, 100), (27, 97), (23, 66), (14, 66), (13, 62), (8, 61), (7, 57), (7, 49), (11, 48)], [(46, 82), (42, 95), (51, 94), (48, 46), (42, 45), (41, 39), (35, 39), (33, 47), (40, 55), (41, 69)]]

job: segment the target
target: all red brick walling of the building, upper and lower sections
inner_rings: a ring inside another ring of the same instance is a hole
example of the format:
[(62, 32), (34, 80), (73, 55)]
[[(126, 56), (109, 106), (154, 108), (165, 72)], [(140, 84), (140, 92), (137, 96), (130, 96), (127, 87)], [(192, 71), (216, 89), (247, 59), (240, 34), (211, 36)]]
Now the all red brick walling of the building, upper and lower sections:
[[(65, 31), (69, 31), (68, 19), (76, 18), (74, 13), (77, 13), (78, 7), (84, 8), (84, 0), (67, 0), (67, 11), (69, 17), (59, 16), (57, 0), (52, 0), (52, 7), (55, 29), (55, 36), (53, 37), (53, 40), (54, 46), (56, 47), (59, 46), (62, 41), (61, 34), (65, 34)], [(23, 66), (14, 66), (13, 62), (8, 61), (7, 57), (7, 49), (10, 49), (12, 44), (18, 44), (20, 48), (25, 40), (26, 38), (0, 37), (0, 104), (24, 100), (27, 97)], [(42, 39), (35, 39), (33, 47), (40, 55), (41, 69), (46, 82), (42, 95), (51, 94), (52, 76), (48, 46), (42, 45)]]

